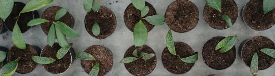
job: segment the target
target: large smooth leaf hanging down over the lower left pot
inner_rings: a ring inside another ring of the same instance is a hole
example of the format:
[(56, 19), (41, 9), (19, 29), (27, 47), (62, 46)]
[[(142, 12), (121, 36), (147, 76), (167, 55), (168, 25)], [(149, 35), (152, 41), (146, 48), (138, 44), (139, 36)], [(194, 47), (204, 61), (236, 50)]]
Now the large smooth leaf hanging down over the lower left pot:
[(21, 33), (21, 30), (20, 30), (17, 22), (15, 23), (13, 31), (12, 31), (12, 42), (17, 48), (26, 49), (25, 39)]

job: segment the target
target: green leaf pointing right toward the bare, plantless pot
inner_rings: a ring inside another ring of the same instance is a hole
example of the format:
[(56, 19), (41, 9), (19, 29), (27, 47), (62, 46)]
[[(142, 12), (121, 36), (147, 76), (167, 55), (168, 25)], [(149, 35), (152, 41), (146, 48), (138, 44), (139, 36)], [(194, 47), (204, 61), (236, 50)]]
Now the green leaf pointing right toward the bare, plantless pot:
[(163, 15), (153, 15), (148, 16), (145, 19), (147, 22), (149, 22), (152, 25), (159, 26), (164, 24), (164, 16)]

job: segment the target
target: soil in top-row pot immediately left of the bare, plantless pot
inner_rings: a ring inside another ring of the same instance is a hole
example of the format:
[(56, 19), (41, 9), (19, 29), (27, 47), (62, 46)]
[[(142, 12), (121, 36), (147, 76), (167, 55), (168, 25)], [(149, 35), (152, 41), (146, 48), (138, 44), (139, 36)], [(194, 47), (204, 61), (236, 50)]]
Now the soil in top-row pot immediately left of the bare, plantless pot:
[[(145, 18), (147, 16), (153, 16), (156, 15), (156, 10), (155, 8), (148, 2), (145, 3), (145, 6), (149, 7), (149, 12), (146, 16), (142, 17)], [(141, 11), (139, 9), (136, 9), (133, 4), (131, 3), (130, 5), (128, 5), (128, 7), (126, 8), (125, 12), (124, 12), (124, 22), (127, 26), (128, 29), (130, 29), (132, 32), (134, 30), (134, 26), (137, 22), (139, 22), (140, 20), (142, 20), (142, 22), (145, 24), (147, 31), (151, 31), (154, 28), (154, 25), (150, 24), (149, 22), (147, 22), (146, 20), (141, 18)]]

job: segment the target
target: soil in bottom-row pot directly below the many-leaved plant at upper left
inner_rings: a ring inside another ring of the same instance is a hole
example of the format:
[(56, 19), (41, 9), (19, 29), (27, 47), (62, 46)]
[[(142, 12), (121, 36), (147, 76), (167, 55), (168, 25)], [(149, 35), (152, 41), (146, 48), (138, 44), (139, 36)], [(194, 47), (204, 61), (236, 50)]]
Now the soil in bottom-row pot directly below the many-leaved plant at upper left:
[[(53, 73), (53, 74), (63, 73), (71, 65), (72, 58), (71, 58), (70, 52), (68, 52), (62, 59), (58, 59), (56, 57), (56, 54), (60, 48), (61, 47), (59, 46), (58, 43), (54, 43), (53, 47), (50, 47), (49, 45), (47, 45), (46, 47), (44, 47), (44, 49), (41, 52), (41, 57), (56, 59), (56, 61), (51, 64), (43, 65), (43, 67), (50, 73)], [(72, 50), (72, 48), (70, 50)]]

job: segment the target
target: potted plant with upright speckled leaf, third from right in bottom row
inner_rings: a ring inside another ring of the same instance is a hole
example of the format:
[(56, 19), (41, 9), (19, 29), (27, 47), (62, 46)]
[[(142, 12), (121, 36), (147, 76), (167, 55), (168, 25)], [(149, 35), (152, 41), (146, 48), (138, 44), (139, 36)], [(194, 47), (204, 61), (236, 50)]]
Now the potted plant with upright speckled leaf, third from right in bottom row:
[(161, 61), (169, 72), (183, 74), (191, 70), (198, 60), (198, 52), (186, 43), (174, 42), (171, 29), (166, 35), (166, 45), (161, 56)]

